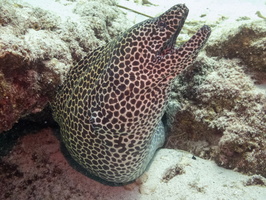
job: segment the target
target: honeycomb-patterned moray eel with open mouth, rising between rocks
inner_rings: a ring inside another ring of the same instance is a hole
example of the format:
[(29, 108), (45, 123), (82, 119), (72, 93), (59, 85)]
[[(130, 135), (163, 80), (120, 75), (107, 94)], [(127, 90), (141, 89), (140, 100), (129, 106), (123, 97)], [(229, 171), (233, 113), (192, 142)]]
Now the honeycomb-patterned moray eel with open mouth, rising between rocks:
[(93, 176), (126, 184), (147, 168), (165, 140), (161, 121), (173, 79), (210, 35), (204, 25), (174, 47), (188, 15), (178, 4), (99, 47), (70, 69), (52, 102), (74, 160)]

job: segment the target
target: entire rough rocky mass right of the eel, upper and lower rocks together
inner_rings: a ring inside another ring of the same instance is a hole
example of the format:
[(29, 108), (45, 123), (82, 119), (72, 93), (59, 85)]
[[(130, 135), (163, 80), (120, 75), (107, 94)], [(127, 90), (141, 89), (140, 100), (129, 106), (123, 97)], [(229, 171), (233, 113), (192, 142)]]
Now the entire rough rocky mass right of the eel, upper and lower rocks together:
[(266, 176), (266, 93), (259, 85), (266, 79), (249, 76), (266, 70), (263, 23), (214, 29), (207, 55), (203, 52), (173, 87), (167, 147)]

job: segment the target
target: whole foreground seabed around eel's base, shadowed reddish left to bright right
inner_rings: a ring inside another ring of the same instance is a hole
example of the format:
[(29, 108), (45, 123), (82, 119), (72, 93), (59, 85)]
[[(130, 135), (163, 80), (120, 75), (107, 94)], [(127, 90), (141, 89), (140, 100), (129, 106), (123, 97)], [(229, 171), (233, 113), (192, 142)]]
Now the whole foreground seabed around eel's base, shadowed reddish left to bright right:
[(1, 162), (0, 199), (263, 200), (266, 195), (261, 176), (171, 149), (160, 149), (135, 183), (103, 185), (68, 164), (50, 128), (20, 138)]

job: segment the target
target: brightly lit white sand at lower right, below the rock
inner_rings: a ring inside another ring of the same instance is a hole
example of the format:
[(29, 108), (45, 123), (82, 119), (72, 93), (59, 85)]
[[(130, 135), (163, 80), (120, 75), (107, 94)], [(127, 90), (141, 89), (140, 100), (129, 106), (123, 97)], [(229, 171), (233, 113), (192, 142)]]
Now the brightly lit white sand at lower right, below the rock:
[[(163, 182), (165, 173), (177, 166), (183, 174)], [(265, 187), (245, 186), (250, 177), (218, 167), (213, 161), (194, 160), (184, 151), (159, 150), (146, 176), (148, 179), (139, 187), (141, 196), (136, 199), (263, 200), (266, 197)]]

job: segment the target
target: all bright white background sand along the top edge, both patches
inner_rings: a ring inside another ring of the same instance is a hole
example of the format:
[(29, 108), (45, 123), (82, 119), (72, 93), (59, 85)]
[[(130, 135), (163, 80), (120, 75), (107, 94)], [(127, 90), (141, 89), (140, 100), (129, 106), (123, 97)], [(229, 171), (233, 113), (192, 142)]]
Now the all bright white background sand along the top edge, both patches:
[[(257, 11), (261, 11), (266, 15), (266, 1), (265, 0), (149, 0), (154, 6), (142, 6), (133, 2), (133, 0), (118, 0), (118, 4), (128, 7), (130, 9), (142, 12), (150, 16), (157, 16), (169, 9), (171, 6), (184, 3), (189, 8), (188, 20), (204, 20), (206, 22), (216, 22), (221, 17), (228, 17), (228, 20), (235, 20), (239, 17), (249, 17), (251, 19), (258, 19), (255, 14)], [(40, 7), (45, 10), (50, 10), (57, 13), (62, 19), (67, 17), (75, 18), (76, 15), (72, 13), (72, 8), (75, 2), (69, 2), (66, 0), (21, 0), (21, 2), (27, 2), (33, 6)], [(135, 14), (130, 11), (122, 9), (128, 13), (128, 18), (134, 23), (138, 23), (147, 17)], [(200, 18), (202, 14), (206, 14), (205, 17)], [(78, 20), (78, 18), (77, 18)]]

